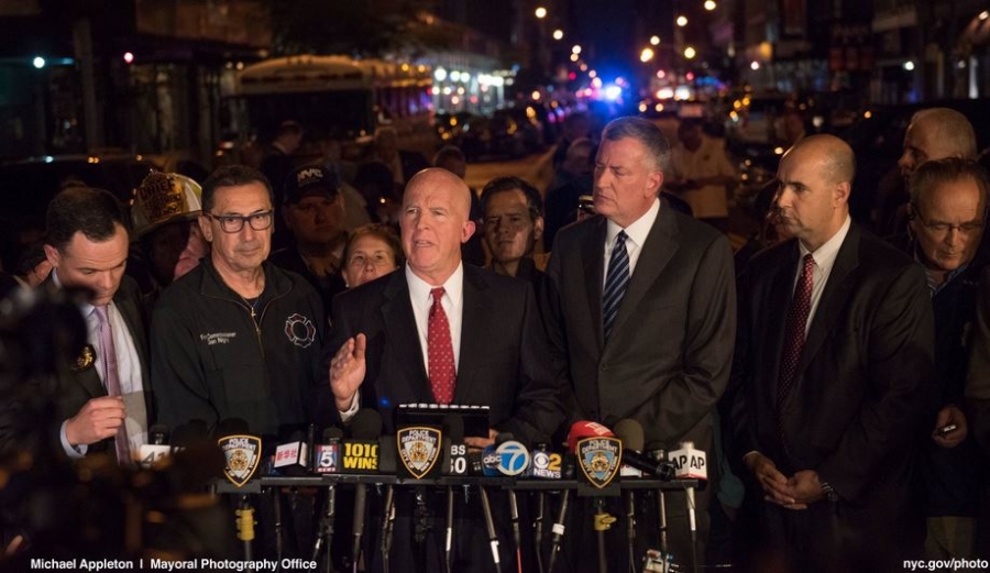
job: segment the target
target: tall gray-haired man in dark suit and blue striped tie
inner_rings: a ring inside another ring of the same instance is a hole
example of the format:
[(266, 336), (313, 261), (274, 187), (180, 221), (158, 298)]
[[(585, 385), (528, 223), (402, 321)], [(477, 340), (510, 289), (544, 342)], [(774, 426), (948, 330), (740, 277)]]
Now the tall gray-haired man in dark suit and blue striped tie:
[[(692, 441), (713, 460), (712, 412), (728, 381), (735, 337), (732, 250), (722, 233), (660, 198), (669, 163), (670, 143), (651, 122), (620, 118), (606, 125), (595, 158), (598, 216), (558, 233), (543, 316), (572, 421), (634, 419), (647, 450)], [(716, 474), (710, 470), (710, 481)], [(702, 539), (715, 489), (697, 496)], [(688, 511), (682, 495), (670, 499), (672, 549), (686, 568)], [(634, 559), (659, 547), (657, 528), (648, 525), (654, 507), (639, 513)], [(590, 518), (586, 524), (585, 532)], [(606, 536), (609, 571), (628, 571), (625, 526)], [(564, 561), (591, 570), (594, 554), (582, 551), (594, 547), (574, 543), (576, 553)]]

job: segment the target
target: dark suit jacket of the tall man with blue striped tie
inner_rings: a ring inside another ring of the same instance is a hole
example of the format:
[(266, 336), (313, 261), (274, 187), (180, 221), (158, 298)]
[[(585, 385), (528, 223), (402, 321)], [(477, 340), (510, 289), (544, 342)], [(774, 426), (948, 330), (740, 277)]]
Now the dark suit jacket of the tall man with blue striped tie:
[(693, 440), (711, 450), (711, 411), (735, 337), (728, 242), (663, 201), (606, 343), (605, 233), (603, 217), (562, 229), (547, 268), (551, 288), (541, 298), (568, 414), (606, 426), (634, 418), (647, 449)]

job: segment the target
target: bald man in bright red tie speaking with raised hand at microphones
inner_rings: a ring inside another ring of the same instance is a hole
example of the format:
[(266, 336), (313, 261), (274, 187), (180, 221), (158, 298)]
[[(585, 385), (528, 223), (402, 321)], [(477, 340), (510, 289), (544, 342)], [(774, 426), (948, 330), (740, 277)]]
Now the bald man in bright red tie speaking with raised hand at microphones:
[[(399, 220), (406, 267), (333, 301), (329, 383), (318, 403), (323, 414), (348, 420), (359, 407), (375, 408), (386, 433), (394, 433), (393, 409), (400, 404), (488, 406), (488, 436), (465, 438), (476, 448), (503, 431), (531, 443), (563, 421), (531, 287), (461, 262), (461, 245), (474, 233), (470, 192), (443, 169), (425, 169), (409, 181)], [(414, 551), (411, 531), (399, 530), (410, 517), (399, 494), (396, 554)], [(479, 496), (470, 497), (476, 504)], [(454, 570), (488, 571), (491, 551), (468, 544), (487, 538), (475, 517), (481, 511), (464, 515), (472, 518), (457, 528)], [(514, 559), (503, 549), (504, 565)], [(414, 571), (442, 571), (439, 562), (413, 561)]]

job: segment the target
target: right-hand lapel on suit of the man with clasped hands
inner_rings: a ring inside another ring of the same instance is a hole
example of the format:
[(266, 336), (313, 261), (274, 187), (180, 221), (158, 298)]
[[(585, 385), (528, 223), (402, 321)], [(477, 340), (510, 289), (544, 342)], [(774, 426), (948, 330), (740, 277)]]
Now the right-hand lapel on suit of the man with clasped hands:
[(825, 290), (822, 291), (822, 299), (818, 301), (818, 308), (812, 318), (811, 327), (807, 329), (807, 337), (804, 340), (804, 350), (801, 352), (801, 361), (798, 362), (795, 375), (804, 372), (804, 368), (811, 363), (822, 342), (832, 330), (833, 324), (839, 316), (839, 312), (846, 306), (846, 299), (853, 290), (856, 275), (854, 271), (859, 266), (859, 228), (855, 224), (849, 229), (846, 240), (839, 247), (832, 273), (828, 275), (828, 282), (825, 283)]

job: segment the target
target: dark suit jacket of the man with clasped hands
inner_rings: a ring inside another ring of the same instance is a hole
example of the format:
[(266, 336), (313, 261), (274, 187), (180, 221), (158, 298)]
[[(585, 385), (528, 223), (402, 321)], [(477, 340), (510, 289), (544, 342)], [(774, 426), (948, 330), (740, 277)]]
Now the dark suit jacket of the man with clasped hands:
[(790, 240), (754, 256), (741, 276), (733, 370), (733, 384), (741, 385), (736, 456), (758, 450), (785, 475), (817, 471), (839, 495), (837, 511), (846, 524), (893, 539), (916, 506), (909, 498), (910, 461), (936, 393), (924, 273), (853, 223), (781, 407), (784, 450), (774, 400), (799, 260), (798, 242)]

